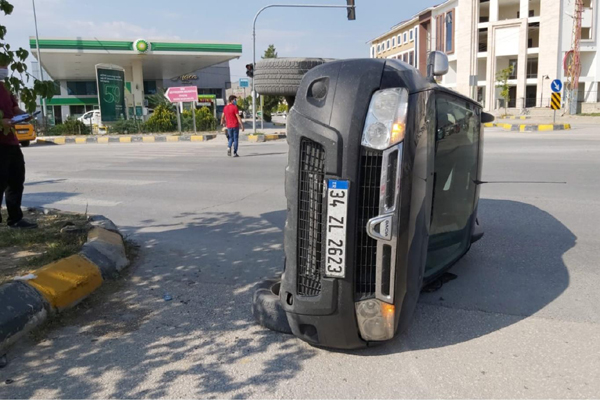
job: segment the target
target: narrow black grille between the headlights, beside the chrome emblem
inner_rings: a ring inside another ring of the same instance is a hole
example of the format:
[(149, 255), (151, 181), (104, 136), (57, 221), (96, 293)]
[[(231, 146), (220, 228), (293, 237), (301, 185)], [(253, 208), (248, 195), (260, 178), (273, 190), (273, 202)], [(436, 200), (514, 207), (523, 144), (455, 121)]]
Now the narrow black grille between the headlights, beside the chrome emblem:
[(356, 221), (356, 300), (375, 296), (377, 241), (367, 234), (367, 222), (379, 215), (379, 193), (383, 156), (372, 150), (363, 150), (361, 156), (358, 214)]

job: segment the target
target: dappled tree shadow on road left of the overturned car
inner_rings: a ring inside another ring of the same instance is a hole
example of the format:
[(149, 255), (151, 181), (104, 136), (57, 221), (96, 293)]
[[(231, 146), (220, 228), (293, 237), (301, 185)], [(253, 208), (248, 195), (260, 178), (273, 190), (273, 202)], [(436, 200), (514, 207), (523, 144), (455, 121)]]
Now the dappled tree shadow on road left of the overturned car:
[[(245, 398), (294, 379), (317, 350), (250, 313), (254, 283), (282, 270), (284, 220), (284, 211), (204, 213), (183, 227), (126, 227), (143, 248), (128, 276), (68, 312), (42, 343), (11, 352), (0, 379), (14, 383), (0, 384), (0, 398), (42, 388), (63, 398)], [(194, 391), (177, 392), (181, 382)]]

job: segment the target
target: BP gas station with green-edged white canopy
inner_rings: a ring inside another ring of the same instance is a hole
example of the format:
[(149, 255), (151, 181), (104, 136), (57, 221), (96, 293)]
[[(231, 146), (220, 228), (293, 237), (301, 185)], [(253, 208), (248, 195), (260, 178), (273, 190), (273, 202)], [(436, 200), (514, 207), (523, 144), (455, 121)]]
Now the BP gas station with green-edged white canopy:
[[(37, 59), (35, 38), (29, 43)], [(242, 45), (233, 43), (40, 38), (39, 44), (43, 71), (49, 75), (44, 79), (56, 83), (54, 97), (46, 102), (55, 123), (98, 108), (96, 64), (125, 69), (131, 117), (147, 115), (146, 96), (172, 86), (196, 86), (204, 104), (207, 98), (216, 98), (215, 106), (222, 104), (231, 87), (229, 61), (242, 54)]]

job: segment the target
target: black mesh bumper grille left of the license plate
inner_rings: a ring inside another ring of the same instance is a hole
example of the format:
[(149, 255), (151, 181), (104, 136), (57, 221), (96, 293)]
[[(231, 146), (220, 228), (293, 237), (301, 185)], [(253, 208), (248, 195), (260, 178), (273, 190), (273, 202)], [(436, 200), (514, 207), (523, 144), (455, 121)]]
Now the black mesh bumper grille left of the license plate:
[(303, 139), (298, 202), (298, 295), (321, 293), (325, 149)]

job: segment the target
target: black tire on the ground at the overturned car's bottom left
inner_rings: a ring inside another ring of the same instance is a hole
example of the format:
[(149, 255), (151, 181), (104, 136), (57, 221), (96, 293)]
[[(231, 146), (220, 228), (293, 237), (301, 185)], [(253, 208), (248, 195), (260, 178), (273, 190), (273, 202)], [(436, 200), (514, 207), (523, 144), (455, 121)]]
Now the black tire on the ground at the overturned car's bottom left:
[(254, 287), (252, 315), (260, 325), (272, 331), (292, 333), (279, 300), (280, 279), (267, 279)]

